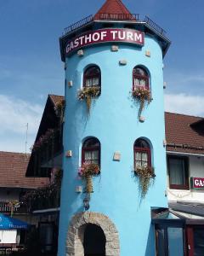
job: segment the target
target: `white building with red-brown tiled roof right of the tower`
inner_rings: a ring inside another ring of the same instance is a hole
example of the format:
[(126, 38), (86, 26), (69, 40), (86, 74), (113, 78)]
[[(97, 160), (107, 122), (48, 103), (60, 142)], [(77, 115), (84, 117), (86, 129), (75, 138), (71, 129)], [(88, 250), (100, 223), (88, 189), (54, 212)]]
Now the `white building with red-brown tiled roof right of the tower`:
[(182, 255), (204, 255), (204, 119), (166, 113), (167, 198)]

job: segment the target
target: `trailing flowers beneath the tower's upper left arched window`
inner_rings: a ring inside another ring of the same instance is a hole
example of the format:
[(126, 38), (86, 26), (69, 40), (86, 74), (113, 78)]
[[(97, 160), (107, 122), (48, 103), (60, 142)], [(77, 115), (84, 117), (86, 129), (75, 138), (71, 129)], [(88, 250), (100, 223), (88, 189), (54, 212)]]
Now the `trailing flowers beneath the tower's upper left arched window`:
[(83, 87), (81, 90), (78, 90), (78, 99), (80, 101), (85, 100), (87, 103), (88, 113), (90, 113), (92, 99), (99, 96), (100, 87), (92, 86), (92, 87)]

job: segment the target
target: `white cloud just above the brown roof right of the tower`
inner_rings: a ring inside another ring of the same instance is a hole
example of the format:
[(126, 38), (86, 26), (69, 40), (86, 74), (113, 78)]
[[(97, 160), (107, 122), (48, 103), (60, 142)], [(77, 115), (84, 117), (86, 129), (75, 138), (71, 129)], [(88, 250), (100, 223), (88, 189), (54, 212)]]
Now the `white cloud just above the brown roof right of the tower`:
[(165, 95), (165, 110), (204, 116), (204, 96), (190, 96), (184, 93)]

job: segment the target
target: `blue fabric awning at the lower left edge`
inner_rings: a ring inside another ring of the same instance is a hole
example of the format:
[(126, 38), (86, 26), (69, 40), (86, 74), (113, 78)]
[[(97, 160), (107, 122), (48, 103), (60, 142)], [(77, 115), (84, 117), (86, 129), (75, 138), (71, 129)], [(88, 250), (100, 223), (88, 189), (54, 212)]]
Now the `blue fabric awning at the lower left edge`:
[(0, 213), (0, 230), (26, 230), (29, 224), (17, 218)]

